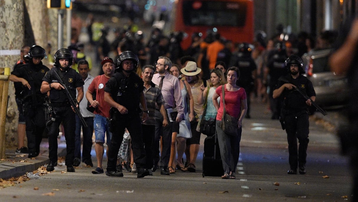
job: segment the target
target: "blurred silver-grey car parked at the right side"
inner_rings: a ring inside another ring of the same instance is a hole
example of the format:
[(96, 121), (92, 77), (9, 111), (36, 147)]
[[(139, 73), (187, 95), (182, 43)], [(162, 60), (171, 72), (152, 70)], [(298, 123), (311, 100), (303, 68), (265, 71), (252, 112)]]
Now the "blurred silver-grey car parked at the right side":
[(332, 48), (313, 50), (302, 56), (307, 78), (316, 91), (316, 103), (321, 107), (345, 104), (348, 98), (347, 77), (330, 71), (328, 58)]

